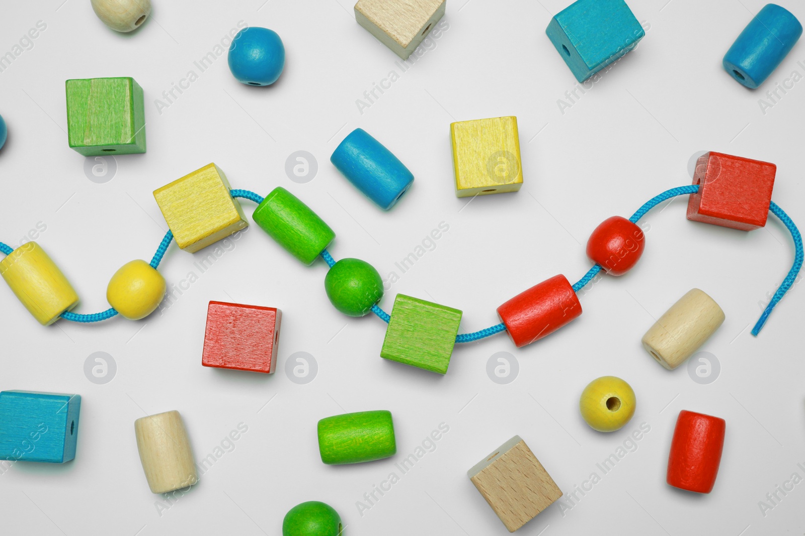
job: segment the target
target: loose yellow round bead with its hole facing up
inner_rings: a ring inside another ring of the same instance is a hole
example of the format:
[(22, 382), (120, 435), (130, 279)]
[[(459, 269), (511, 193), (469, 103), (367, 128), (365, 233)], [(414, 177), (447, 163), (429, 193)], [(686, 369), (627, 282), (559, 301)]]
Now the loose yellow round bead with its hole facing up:
[(628, 383), (615, 376), (592, 380), (581, 392), (581, 416), (598, 432), (615, 432), (634, 415), (636, 400)]

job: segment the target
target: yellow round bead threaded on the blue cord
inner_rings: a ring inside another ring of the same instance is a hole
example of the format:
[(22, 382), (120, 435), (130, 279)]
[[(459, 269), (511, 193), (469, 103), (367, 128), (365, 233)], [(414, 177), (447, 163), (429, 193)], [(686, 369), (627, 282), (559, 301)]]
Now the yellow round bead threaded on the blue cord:
[(122, 317), (139, 320), (154, 312), (165, 296), (165, 278), (144, 260), (132, 260), (114, 272), (106, 300)]

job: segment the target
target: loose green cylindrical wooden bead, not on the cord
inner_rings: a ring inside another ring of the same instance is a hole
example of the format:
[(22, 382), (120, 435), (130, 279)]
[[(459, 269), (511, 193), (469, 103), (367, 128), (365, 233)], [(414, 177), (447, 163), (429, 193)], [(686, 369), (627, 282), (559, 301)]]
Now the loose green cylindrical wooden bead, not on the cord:
[(394, 456), (390, 411), (359, 411), (319, 421), (319, 453), (328, 465), (358, 464)]

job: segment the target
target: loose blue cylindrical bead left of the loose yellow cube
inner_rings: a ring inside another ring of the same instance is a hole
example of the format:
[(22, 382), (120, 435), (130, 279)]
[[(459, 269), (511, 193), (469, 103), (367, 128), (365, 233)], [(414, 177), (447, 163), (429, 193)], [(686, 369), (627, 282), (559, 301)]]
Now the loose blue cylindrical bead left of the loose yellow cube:
[(330, 162), (384, 211), (394, 207), (414, 182), (414, 175), (403, 162), (364, 129), (349, 133)]

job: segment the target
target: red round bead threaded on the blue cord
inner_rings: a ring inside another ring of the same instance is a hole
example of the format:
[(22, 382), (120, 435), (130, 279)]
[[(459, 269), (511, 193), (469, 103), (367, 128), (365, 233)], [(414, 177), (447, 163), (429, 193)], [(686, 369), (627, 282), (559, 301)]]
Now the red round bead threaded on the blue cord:
[(640, 227), (621, 216), (605, 219), (587, 241), (587, 256), (610, 276), (629, 272), (646, 248)]

